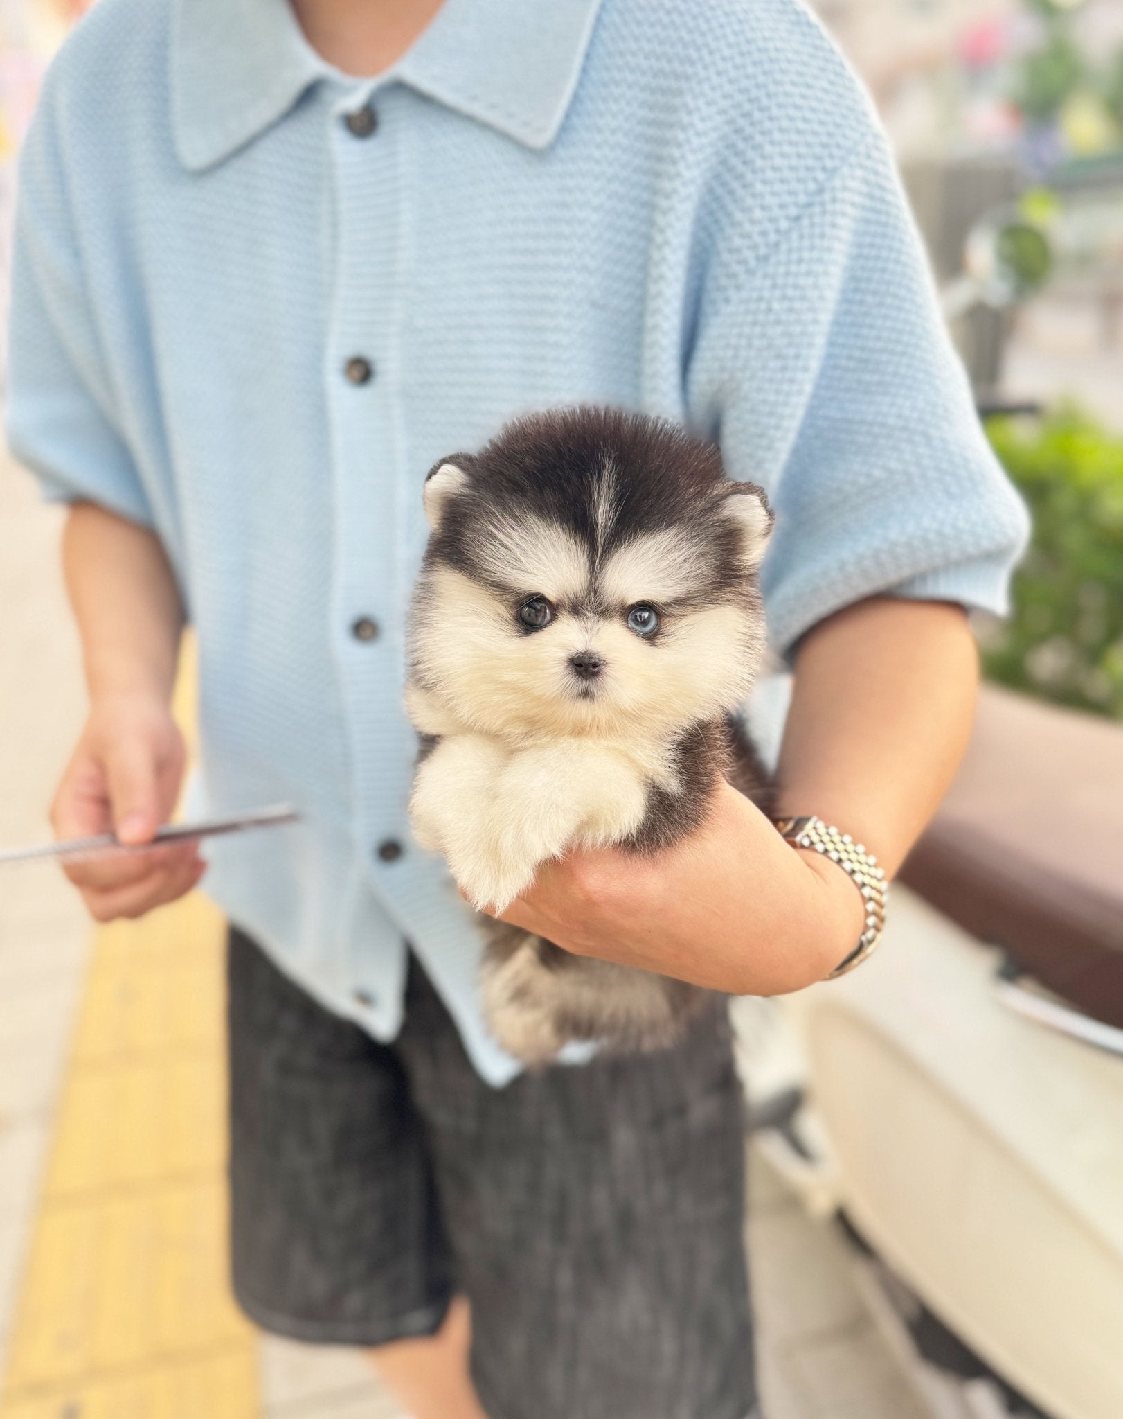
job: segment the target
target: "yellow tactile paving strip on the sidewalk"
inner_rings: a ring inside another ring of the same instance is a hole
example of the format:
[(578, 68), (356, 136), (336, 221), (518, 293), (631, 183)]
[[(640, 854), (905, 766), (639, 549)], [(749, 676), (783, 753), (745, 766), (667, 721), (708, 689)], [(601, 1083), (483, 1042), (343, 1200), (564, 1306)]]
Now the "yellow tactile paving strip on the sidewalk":
[(223, 935), (193, 894), (95, 937), (0, 1419), (259, 1413), (227, 1284)]

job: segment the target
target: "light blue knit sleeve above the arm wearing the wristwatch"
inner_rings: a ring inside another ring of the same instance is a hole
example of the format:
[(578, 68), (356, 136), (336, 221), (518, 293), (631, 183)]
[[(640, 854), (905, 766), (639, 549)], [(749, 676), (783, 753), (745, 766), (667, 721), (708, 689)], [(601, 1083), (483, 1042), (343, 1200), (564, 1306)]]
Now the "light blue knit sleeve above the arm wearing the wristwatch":
[(777, 650), (878, 593), (1002, 613), (1027, 514), (980, 427), (882, 133), (871, 123), (743, 270), (729, 237), (688, 406), (729, 473), (770, 492)]

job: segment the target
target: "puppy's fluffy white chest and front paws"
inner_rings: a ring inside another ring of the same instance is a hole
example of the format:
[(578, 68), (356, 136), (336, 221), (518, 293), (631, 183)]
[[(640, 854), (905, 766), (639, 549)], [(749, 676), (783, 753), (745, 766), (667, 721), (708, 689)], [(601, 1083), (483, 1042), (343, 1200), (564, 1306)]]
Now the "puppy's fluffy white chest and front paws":
[(476, 908), (502, 911), (540, 863), (570, 847), (630, 837), (652, 785), (671, 786), (661, 752), (577, 736), (512, 746), (448, 728), (445, 719), (417, 772), (410, 816), (418, 843), (444, 854)]

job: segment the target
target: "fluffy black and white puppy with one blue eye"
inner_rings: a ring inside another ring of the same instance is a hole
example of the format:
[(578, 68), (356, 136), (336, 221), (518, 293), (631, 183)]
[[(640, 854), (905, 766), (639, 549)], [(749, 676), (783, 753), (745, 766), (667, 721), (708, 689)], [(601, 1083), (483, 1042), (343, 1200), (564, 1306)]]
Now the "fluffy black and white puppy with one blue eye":
[[(570, 847), (669, 847), (719, 775), (767, 807), (736, 715), (773, 518), (712, 444), (611, 409), (535, 414), (437, 464), (424, 501), (410, 812), (476, 907), (502, 911)], [(706, 998), (481, 920), (485, 1015), (527, 1063), (569, 1039), (661, 1047)]]

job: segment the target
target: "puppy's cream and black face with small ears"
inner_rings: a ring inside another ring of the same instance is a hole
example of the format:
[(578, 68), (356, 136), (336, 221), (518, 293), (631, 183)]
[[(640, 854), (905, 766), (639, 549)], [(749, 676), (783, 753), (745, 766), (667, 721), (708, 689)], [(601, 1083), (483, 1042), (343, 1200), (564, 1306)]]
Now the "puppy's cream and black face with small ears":
[(771, 525), (760, 490), (713, 482), (637, 519), (624, 477), (601, 458), (586, 505), (559, 517), (491, 497), (465, 460), (430, 475), (414, 678), (461, 721), (516, 738), (659, 736), (749, 692)]

